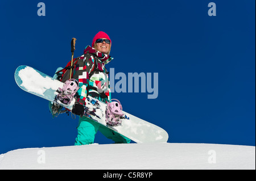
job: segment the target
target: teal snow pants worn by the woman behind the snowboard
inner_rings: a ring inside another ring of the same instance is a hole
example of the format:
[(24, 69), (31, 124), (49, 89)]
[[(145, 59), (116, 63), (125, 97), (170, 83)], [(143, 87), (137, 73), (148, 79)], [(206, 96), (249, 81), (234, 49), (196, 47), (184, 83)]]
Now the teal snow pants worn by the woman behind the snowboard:
[(129, 144), (130, 139), (121, 134), (104, 127), (100, 123), (89, 119), (88, 117), (80, 117), (79, 126), (77, 127), (77, 137), (75, 145), (93, 144), (96, 133), (100, 131), (104, 136), (113, 140), (115, 144)]

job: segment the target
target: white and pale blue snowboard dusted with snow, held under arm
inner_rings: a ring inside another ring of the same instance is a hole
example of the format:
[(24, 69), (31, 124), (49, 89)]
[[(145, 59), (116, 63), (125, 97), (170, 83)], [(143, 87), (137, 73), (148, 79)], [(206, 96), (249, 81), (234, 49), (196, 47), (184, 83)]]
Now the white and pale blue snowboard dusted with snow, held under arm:
[[(50, 102), (56, 102), (56, 90), (62, 88), (64, 85), (63, 82), (26, 65), (18, 66), (15, 70), (14, 77), (20, 89), (39, 96), (40, 98), (49, 100)], [(125, 113), (126, 118), (122, 119), (120, 125), (111, 126), (106, 124), (106, 104), (98, 101), (97, 107), (95, 107), (95, 105), (92, 104), (93, 102), (93, 98), (86, 100), (86, 110), (88, 111), (84, 116), (90, 117), (90, 119), (97, 121), (101, 125), (104, 125), (137, 143), (167, 142), (168, 133), (164, 131), (164, 129), (125, 111), (122, 112)], [(68, 106), (59, 104), (71, 111), (74, 103), (75, 100)], [(93, 112), (93, 114), (89, 114), (88, 112)]]

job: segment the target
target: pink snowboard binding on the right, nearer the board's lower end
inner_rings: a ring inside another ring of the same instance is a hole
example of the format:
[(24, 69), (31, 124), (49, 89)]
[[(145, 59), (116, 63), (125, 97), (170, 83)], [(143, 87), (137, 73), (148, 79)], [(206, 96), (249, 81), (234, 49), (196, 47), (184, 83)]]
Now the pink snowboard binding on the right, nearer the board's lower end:
[[(116, 100), (113, 102), (113, 100)], [(111, 99), (106, 107), (106, 124), (116, 127), (121, 125), (122, 119), (125, 119), (125, 114), (122, 112), (122, 105), (117, 99)]]

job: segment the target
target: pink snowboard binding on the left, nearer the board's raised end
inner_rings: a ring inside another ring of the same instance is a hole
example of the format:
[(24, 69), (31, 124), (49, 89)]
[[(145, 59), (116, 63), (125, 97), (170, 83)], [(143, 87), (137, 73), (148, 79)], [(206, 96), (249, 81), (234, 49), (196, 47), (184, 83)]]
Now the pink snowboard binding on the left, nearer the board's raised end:
[(67, 80), (64, 85), (63, 89), (57, 89), (57, 95), (55, 97), (56, 102), (60, 104), (69, 105), (73, 98), (76, 95), (76, 92), (79, 90), (79, 82), (76, 79), (69, 79)]

